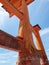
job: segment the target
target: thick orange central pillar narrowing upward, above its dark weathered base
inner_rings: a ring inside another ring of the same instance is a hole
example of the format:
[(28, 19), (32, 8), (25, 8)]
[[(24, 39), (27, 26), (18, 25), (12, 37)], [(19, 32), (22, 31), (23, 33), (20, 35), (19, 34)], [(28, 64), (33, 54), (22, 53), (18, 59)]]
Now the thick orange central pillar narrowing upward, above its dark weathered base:
[(20, 20), (18, 36), (24, 38), (26, 48), (30, 49), (31, 45), (33, 46), (33, 48), (35, 48), (32, 38), (32, 31), (30, 29), (28, 8), (25, 0), (22, 0), (22, 13), (23, 13), (23, 19)]

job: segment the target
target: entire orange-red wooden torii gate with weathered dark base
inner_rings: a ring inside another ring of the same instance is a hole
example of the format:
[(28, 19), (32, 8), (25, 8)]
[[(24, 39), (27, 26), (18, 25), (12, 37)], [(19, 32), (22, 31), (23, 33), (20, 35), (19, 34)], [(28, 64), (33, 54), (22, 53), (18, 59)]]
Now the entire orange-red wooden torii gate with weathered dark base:
[[(29, 21), (27, 5), (33, 0), (0, 0), (0, 2), (10, 17), (16, 15), (20, 19), (17, 37), (0, 30), (0, 47), (18, 51), (16, 65), (49, 65), (39, 34), (41, 28), (39, 25), (32, 26)], [(32, 32), (36, 37), (37, 48), (33, 42)]]

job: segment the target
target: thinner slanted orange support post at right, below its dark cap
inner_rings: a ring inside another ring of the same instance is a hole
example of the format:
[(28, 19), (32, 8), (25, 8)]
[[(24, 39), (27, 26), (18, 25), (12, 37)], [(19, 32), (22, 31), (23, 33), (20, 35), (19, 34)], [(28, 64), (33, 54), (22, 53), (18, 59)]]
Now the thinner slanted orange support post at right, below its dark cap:
[(46, 52), (45, 52), (44, 46), (42, 44), (39, 30), (40, 30), (40, 27), (35, 27), (35, 28), (32, 27), (32, 32), (34, 33), (35, 38), (36, 38), (37, 49), (41, 50), (41, 53), (42, 53), (42, 58), (40, 58), (41, 65), (47, 65), (48, 64), (48, 58), (46, 56)]

